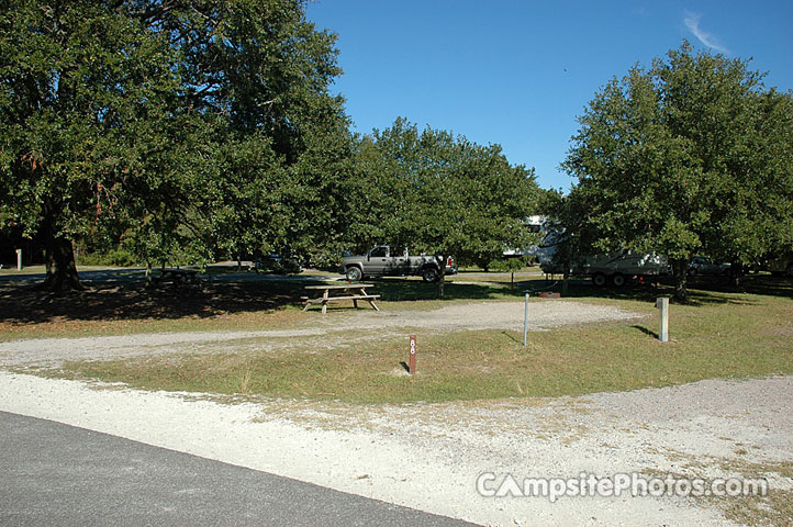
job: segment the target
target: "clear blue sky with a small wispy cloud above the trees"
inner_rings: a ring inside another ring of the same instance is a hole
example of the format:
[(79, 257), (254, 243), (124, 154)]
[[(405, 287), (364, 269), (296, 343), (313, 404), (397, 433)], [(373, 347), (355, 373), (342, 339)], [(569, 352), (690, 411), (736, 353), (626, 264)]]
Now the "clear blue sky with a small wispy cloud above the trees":
[(793, 1), (314, 0), (338, 34), (334, 89), (360, 133), (398, 116), (498, 143), (540, 186), (558, 170), (576, 116), (597, 88), (683, 38), (753, 57), (767, 86), (793, 89)]

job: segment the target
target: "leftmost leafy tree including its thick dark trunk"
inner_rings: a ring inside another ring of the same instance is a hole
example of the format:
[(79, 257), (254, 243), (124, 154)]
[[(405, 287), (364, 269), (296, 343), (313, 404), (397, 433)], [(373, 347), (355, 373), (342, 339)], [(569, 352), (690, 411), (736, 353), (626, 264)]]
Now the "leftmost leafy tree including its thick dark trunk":
[(53, 288), (79, 287), (71, 240), (123, 221), (133, 189), (189, 187), (171, 137), (201, 126), (175, 112), (176, 64), (166, 35), (103, 2), (3, 2), (0, 220), (44, 235)]

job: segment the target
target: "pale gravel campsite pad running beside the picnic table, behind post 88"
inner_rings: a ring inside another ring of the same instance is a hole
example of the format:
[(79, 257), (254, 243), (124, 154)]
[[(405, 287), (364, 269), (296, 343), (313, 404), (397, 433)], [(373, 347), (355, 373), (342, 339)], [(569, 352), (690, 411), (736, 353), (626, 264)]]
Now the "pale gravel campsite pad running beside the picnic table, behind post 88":
[[(569, 324), (621, 321), (646, 316), (608, 305), (543, 300), (529, 304), (529, 330)], [(333, 347), (347, 330), (379, 335), (396, 329), (458, 332), (467, 329), (522, 330), (523, 302), (451, 304), (429, 311), (338, 310), (316, 313), (310, 325), (261, 332), (193, 332), (137, 334), (109, 337), (47, 338), (0, 343), (0, 365), (57, 366), (67, 360), (113, 360), (178, 352), (227, 352), (234, 347), (301, 349), (301, 344)], [(402, 333), (404, 333), (404, 330)]]

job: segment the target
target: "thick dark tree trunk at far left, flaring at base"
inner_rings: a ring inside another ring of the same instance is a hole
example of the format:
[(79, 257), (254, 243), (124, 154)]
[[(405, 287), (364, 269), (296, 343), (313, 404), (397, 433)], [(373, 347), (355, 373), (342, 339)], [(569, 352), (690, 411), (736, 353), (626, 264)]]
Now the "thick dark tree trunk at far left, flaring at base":
[(66, 291), (82, 291), (86, 288), (77, 276), (75, 249), (71, 240), (57, 232), (54, 218), (54, 206), (47, 202), (44, 206), (44, 251), (46, 254), (47, 277), (42, 289), (63, 293)]

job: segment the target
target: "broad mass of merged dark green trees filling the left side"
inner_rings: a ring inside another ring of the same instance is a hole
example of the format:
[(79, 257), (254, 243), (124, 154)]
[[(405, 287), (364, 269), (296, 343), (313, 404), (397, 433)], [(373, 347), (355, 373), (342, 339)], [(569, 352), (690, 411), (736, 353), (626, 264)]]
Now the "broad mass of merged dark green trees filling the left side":
[(79, 287), (75, 239), (154, 261), (335, 242), (339, 72), (301, 0), (0, 2), (0, 228), (44, 235), (53, 289)]

